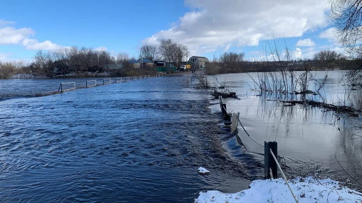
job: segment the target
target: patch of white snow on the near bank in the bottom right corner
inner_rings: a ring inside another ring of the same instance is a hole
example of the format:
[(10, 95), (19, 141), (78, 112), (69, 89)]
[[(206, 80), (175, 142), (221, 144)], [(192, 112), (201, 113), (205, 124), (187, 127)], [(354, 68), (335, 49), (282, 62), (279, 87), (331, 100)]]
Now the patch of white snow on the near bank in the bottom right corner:
[[(339, 182), (329, 178), (321, 180), (313, 177), (300, 178), (289, 182), (300, 203), (345, 203), (362, 202), (362, 193), (348, 187), (340, 187)], [(217, 190), (200, 192), (195, 203), (241, 203), (241, 202), (295, 202), (283, 178), (274, 180), (255, 180), (250, 189), (233, 194), (225, 194)]]

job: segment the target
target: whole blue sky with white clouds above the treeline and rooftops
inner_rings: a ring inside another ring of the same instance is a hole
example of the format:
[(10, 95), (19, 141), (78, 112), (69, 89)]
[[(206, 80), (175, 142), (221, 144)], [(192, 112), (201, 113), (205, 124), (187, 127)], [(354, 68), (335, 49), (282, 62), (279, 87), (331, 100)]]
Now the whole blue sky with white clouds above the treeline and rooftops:
[(325, 0), (2, 1), (0, 61), (31, 61), (39, 49), (70, 46), (136, 53), (161, 39), (188, 45), (190, 56), (212, 60), (233, 51), (259, 60), (273, 37), (296, 59), (311, 59), (322, 49), (343, 52), (329, 8)]

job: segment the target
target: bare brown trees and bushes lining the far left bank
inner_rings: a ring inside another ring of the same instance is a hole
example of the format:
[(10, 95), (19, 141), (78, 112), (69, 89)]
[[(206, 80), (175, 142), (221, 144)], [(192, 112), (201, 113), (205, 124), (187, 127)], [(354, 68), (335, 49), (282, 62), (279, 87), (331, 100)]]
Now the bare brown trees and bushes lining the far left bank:
[[(73, 73), (75, 76), (84, 72), (109, 72), (110, 76), (129, 76), (131, 73), (150, 74), (152, 69), (135, 70), (129, 64), (130, 58), (128, 54), (120, 53), (114, 57), (105, 50), (94, 50), (93, 48), (78, 48), (76, 46), (70, 48), (60, 48), (55, 51), (39, 50), (33, 57), (33, 62), (0, 61), (0, 78), (6, 79), (11, 75), (24, 73), (34, 73), (39, 76), (53, 78), (57, 75), (66, 75)], [(122, 69), (106, 70), (107, 64), (122, 64)]]

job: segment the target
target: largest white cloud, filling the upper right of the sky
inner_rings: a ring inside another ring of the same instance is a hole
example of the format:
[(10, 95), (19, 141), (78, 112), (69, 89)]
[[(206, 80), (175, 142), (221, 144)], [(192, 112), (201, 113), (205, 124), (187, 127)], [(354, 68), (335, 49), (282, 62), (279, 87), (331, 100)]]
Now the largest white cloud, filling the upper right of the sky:
[(186, 0), (185, 4), (191, 12), (143, 43), (157, 45), (160, 39), (171, 38), (187, 44), (191, 54), (204, 53), (202, 47), (257, 46), (273, 35), (298, 37), (327, 26), (329, 9), (324, 0)]

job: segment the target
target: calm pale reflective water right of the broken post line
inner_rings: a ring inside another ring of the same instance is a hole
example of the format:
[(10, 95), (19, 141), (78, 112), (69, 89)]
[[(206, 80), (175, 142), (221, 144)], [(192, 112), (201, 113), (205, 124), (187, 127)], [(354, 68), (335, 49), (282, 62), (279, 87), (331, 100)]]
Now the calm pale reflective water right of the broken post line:
[[(313, 72), (322, 80), (324, 72)], [(325, 100), (328, 103), (361, 108), (362, 90), (346, 91), (341, 82), (341, 73), (328, 72), (330, 81), (320, 91), (320, 95), (307, 95), (306, 99)], [(323, 167), (328, 176), (349, 177), (362, 182), (362, 120), (359, 117), (336, 115), (317, 107), (304, 105), (283, 106), (282, 103), (268, 101), (274, 94), (258, 96), (252, 91), (252, 79), (246, 73), (210, 76), (226, 82), (238, 99), (225, 99), (228, 111), (240, 112), (240, 120), (245, 129), (258, 142), (277, 141), (278, 153), (284, 155), (286, 171), (290, 174), (313, 172)], [(298, 99), (298, 98), (297, 98)], [(343, 101), (343, 102), (342, 102)], [(219, 104), (211, 105), (213, 112), (220, 112)], [(242, 163), (252, 165), (263, 163), (264, 148), (253, 142), (239, 125), (239, 142), (232, 138), (224, 144), (228, 154)], [(340, 165), (347, 170), (345, 173)], [(282, 160), (283, 161), (283, 160)], [(298, 173), (296, 173), (298, 172)]]

